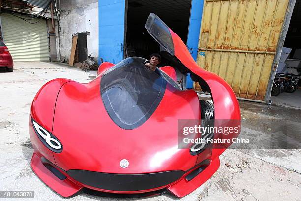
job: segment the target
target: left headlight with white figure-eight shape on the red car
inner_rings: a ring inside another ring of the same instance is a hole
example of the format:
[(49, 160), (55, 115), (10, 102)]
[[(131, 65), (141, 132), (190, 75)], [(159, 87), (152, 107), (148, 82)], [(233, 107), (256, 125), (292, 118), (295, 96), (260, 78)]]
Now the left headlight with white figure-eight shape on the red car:
[(53, 134), (48, 132), (38, 123), (36, 123), (33, 119), (31, 119), (32, 125), (34, 128), (35, 133), (41, 140), (41, 142), (51, 151), (55, 153), (60, 153), (62, 151), (62, 145), (58, 138), (56, 138)]

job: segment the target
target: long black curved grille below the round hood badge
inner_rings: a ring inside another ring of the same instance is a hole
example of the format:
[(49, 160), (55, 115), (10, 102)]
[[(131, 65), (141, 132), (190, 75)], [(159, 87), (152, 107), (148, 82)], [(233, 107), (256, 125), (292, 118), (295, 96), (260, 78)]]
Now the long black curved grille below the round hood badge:
[(184, 171), (149, 174), (110, 174), (87, 170), (67, 171), (73, 179), (85, 185), (111, 191), (141, 191), (165, 186), (180, 179)]

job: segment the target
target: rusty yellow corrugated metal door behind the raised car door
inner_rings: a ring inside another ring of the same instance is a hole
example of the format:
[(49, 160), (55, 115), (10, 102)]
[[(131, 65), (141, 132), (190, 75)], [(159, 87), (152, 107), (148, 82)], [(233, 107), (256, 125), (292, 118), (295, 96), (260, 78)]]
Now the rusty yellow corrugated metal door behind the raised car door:
[(198, 65), (225, 79), (237, 97), (264, 100), (288, 2), (206, 0)]

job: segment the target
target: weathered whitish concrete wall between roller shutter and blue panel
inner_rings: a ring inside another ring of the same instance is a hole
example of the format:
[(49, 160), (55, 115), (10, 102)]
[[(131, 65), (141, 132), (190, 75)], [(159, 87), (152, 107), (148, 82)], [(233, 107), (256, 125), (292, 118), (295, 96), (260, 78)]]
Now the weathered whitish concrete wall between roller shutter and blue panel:
[(62, 0), (60, 9), (60, 59), (69, 62), (72, 35), (81, 32), (90, 32), (87, 53), (98, 59), (98, 0)]

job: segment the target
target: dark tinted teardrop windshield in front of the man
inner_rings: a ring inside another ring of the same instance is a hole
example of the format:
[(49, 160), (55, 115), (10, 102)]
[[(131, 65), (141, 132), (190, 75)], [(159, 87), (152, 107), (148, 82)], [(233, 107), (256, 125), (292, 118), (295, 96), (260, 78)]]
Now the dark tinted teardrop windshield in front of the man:
[[(146, 67), (145, 61), (141, 57), (126, 58), (101, 78), (104, 106), (111, 119), (123, 129), (142, 125), (158, 107), (167, 84), (177, 85), (158, 68), (152, 71)], [(172, 88), (179, 90), (177, 87)]]

